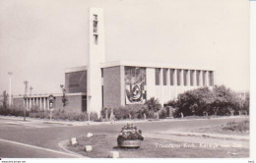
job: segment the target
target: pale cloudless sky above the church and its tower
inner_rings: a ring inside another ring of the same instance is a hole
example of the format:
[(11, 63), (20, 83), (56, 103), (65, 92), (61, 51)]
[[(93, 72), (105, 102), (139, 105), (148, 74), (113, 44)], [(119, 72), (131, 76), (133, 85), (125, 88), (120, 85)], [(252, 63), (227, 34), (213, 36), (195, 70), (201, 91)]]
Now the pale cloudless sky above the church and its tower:
[(89, 8), (104, 10), (106, 61), (214, 67), (216, 83), (249, 90), (247, 0), (1, 0), (0, 93), (58, 93), (85, 66)]

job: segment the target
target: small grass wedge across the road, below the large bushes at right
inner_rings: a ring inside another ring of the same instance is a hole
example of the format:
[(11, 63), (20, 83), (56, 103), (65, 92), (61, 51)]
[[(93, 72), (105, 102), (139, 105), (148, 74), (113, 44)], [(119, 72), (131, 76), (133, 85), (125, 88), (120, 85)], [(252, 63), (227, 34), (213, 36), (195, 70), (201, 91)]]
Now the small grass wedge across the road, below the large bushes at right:
[(242, 122), (230, 122), (221, 126), (216, 126), (211, 128), (199, 128), (193, 132), (248, 136), (250, 131), (249, 128), (250, 128), (250, 121), (245, 120)]

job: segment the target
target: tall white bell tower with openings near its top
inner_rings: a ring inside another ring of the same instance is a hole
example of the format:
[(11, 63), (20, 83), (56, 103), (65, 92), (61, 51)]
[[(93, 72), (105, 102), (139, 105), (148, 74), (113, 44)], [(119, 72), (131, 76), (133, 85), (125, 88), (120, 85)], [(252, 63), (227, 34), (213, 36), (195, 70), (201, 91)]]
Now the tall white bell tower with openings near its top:
[(105, 62), (103, 9), (90, 8), (89, 16), (89, 56), (87, 82), (87, 110), (100, 115), (102, 107), (101, 69)]

